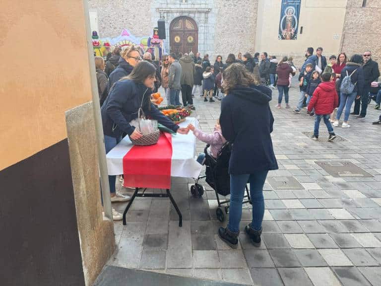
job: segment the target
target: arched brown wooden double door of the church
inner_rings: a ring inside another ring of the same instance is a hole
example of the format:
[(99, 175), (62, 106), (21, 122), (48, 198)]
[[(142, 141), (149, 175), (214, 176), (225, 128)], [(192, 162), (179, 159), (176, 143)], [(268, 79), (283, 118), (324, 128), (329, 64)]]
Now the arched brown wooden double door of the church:
[(198, 28), (196, 22), (187, 16), (173, 19), (169, 26), (171, 53), (197, 53)]

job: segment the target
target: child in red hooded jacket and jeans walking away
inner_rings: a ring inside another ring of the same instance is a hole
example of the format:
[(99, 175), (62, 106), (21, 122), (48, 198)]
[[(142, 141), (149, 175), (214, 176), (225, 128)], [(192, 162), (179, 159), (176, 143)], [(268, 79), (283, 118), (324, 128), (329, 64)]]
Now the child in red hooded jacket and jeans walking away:
[(315, 108), (315, 129), (314, 135), (310, 138), (318, 140), (320, 120), (323, 118), (324, 123), (329, 132), (328, 141), (336, 138), (333, 132), (333, 127), (329, 122), (329, 116), (337, 107), (338, 96), (333, 82), (330, 82), (331, 73), (323, 73), (321, 75), (322, 82), (315, 89), (314, 95), (308, 105), (308, 111), (311, 112)]

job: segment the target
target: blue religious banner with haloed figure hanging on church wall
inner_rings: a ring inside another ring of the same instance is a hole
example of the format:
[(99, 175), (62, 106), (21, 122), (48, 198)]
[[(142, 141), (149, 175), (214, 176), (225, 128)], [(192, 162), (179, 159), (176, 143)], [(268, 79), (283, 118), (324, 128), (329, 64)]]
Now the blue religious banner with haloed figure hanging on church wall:
[(279, 40), (296, 40), (301, 0), (282, 0), (279, 22)]

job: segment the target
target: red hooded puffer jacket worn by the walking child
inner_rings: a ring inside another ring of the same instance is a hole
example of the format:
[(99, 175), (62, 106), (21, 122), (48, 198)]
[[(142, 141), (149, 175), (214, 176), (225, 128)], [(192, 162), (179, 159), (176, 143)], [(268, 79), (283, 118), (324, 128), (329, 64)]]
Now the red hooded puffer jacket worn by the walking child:
[(331, 114), (338, 103), (339, 98), (335, 84), (333, 82), (323, 81), (315, 89), (308, 105), (308, 111), (311, 112), (315, 108), (315, 113), (318, 115)]

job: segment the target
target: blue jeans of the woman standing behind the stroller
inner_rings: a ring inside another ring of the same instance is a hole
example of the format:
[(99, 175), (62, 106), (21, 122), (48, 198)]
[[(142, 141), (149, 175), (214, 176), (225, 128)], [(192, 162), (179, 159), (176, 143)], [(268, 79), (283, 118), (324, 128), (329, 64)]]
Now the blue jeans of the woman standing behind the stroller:
[(260, 230), (264, 214), (263, 185), (268, 171), (257, 171), (254, 174), (230, 174), (230, 213), (228, 228), (232, 232), (240, 231), (242, 202), (245, 186), (250, 181), (250, 197), (253, 203), (252, 228)]

